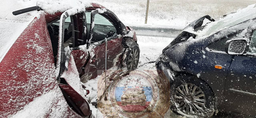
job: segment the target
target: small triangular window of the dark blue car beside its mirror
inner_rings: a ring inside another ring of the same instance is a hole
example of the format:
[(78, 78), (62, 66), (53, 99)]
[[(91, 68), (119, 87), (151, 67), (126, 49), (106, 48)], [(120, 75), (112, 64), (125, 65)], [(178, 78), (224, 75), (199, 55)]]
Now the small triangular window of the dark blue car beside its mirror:
[(228, 40), (231, 40), (231, 39), (239, 39), (239, 38), (243, 38), (243, 35), (241, 35), (241, 32), (233, 35), (233, 36), (229, 36), (229, 37), (226, 37), (224, 39), (221, 39), (213, 44), (210, 44), (208, 46), (209, 49), (211, 50), (217, 50), (217, 51), (223, 51), (225, 52), (225, 43), (226, 41)]

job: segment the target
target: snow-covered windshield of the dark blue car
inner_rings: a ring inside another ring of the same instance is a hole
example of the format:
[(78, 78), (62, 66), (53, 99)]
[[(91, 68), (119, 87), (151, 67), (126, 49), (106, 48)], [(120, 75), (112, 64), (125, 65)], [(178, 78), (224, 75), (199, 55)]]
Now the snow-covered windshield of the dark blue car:
[(194, 32), (192, 27), (188, 27), (184, 29), (186, 32), (190, 32), (196, 34), (196, 38), (204, 38), (207, 36), (211, 36), (212, 34), (219, 32), (228, 27), (234, 26), (236, 24), (242, 23), (249, 19), (253, 19), (256, 17), (256, 7), (255, 4), (249, 5), (244, 9), (239, 9), (237, 12), (226, 15), (224, 18), (220, 18), (214, 22), (206, 24), (203, 30), (198, 30)]

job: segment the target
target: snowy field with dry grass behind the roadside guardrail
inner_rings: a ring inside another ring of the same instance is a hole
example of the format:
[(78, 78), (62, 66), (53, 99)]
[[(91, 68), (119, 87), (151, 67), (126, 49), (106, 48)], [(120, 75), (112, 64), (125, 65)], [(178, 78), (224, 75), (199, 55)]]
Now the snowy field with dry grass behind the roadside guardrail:
[(113, 11), (121, 21), (136, 27), (180, 28), (204, 15), (219, 19), (255, 0), (150, 0), (147, 24), (147, 0), (92, 0)]

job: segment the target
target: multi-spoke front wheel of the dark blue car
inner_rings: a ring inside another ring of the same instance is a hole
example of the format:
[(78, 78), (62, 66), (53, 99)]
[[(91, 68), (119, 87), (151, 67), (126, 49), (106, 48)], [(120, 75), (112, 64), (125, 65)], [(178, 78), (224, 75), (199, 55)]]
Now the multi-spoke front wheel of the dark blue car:
[(215, 112), (214, 94), (202, 80), (181, 75), (171, 84), (171, 108), (189, 118), (210, 117)]

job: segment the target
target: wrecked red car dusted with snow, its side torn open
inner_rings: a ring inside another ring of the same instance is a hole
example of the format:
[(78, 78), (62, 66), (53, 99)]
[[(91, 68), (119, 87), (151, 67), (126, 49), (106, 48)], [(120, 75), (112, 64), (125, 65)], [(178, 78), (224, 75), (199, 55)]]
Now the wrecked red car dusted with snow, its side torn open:
[(79, 6), (52, 12), (38, 4), (13, 12), (37, 15), (0, 53), (0, 117), (92, 117), (83, 83), (105, 70), (105, 47), (107, 69), (137, 67), (134, 30), (104, 6)]

